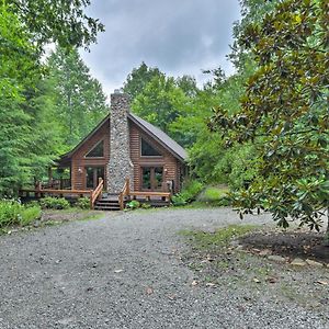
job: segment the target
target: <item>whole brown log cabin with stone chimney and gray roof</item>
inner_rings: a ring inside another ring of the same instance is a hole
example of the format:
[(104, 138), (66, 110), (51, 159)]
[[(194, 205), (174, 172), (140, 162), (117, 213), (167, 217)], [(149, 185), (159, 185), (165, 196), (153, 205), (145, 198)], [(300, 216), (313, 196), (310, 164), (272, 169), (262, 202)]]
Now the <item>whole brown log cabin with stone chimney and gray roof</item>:
[(102, 181), (103, 194), (127, 189), (131, 195), (161, 195), (180, 192), (186, 158), (177, 141), (131, 112), (127, 94), (115, 91), (109, 115), (57, 166), (69, 169), (71, 191), (95, 190)]

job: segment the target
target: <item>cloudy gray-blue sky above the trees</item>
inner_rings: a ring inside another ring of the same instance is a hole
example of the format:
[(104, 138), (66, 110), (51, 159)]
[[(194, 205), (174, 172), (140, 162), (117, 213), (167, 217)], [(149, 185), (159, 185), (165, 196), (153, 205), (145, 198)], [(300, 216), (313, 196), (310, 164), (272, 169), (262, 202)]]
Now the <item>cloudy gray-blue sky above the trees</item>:
[(170, 76), (191, 75), (200, 84), (202, 69), (220, 66), (231, 44), (238, 0), (92, 0), (88, 13), (105, 24), (91, 52), (81, 52), (91, 73), (109, 95), (121, 88), (141, 61)]

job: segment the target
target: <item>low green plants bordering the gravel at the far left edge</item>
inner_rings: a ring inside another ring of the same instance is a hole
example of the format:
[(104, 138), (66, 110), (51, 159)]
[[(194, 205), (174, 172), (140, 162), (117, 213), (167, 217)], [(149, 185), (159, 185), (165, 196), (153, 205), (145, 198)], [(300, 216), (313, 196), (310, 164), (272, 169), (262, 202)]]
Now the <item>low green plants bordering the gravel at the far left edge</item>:
[(37, 205), (25, 207), (15, 200), (0, 201), (0, 228), (11, 225), (25, 226), (41, 217)]

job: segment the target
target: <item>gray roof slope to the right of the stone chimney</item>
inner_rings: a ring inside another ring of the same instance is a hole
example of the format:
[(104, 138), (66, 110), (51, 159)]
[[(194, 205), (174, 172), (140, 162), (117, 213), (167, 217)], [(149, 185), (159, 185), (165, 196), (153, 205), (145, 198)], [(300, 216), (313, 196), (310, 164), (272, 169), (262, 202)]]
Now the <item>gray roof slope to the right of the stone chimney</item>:
[(188, 159), (188, 152), (182, 148), (177, 141), (169, 137), (158, 127), (154, 126), (149, 122), (143, 120), (134, 113), (128, 113), (128, 118), (131, 118), (135, 124), (137, 124), (143, 131), (151, 135), (160, 145), (168, 149), (173, 156), (182, 161)]

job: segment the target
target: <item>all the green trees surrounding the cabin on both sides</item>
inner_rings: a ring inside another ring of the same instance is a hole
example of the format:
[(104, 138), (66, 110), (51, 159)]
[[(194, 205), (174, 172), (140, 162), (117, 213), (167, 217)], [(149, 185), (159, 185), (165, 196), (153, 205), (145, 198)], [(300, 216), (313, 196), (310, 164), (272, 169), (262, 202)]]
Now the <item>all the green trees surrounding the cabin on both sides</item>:
[[(169, 77), (141, 63), (132, 111), (189, 150), (191, 177), (226, 183), (243, 213), (318, 228), (328, 208), (328, 2), (242, 0), (228, 54), (235, 73)], [(88, 0), (0, 5), (0, 194), (45, 177), (110, 111), (79, 48), (104, 30)], [(219, 32), (218, 32), (219, 33)], [(219, 36), (218, 36), (219, 37)], [(45, 46), (56, 49), (45, 60)], [(201, 68), (202, 69), (202, 68)], [(107, 92), (107, 91), (106, 91)]]

